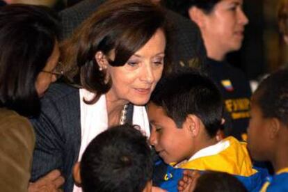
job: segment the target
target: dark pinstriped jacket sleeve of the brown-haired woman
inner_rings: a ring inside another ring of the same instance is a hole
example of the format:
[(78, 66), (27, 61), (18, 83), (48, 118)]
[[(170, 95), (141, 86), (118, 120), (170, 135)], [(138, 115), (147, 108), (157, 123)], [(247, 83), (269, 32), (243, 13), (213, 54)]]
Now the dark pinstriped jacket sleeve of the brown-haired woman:
[(45, 97), (38, 118), (31, 119), (36, 143), (33, 152), (31, 182), (35, 182), (51, 170), (63, 169), (63, 131), (61, 112), (54, 100)]

